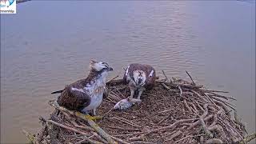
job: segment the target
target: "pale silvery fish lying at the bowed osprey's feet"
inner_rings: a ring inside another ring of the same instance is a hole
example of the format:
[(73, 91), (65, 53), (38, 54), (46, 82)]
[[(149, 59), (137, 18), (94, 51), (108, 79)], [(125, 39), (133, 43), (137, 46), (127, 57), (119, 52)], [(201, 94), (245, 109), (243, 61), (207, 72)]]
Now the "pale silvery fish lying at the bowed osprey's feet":
[(114, 105), (114, 110), (127, 110), (134, 104), (140, 104), (142, 100), (136, 98), (125, 98)]

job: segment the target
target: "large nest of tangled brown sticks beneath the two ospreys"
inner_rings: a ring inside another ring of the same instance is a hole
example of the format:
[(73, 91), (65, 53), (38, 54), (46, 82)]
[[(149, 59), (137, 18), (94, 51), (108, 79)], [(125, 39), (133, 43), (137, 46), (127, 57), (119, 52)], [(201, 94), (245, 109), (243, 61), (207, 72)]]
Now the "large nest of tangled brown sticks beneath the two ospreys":
[(116, 102), (130, 96), (121, 79), (112, 79), (97, 110), (102, 118), (92, 121), (50, 101), (55, 110), (48, 120), (39, 118), (42, 130), (34, 136), (25, 133), (34, 143), (235, 143), (255, 138), (255, 134), (245, 138), (245, 126), (236, 113), (231, 118), (234, 106), (227, 101), (234, 98), (191, 80), (166, 77), (142, 93), (141, 104), (112, 110)]

